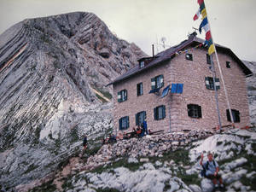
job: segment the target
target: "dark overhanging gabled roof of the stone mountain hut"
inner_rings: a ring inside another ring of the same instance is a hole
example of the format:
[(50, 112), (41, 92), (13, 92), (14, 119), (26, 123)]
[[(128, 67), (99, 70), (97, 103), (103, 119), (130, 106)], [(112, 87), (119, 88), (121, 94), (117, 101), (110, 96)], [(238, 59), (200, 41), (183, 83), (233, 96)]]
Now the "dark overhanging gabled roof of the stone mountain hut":
[[(194, 32), (189, 36), (189, 38), (187, 40), (184, 40), (180, 44), (173, 46), (169, 49), (166, 49), (166, 50), (160, 52), (159, 54), (155, 55), (154, 60), (150, 61), (148, 63), (148, 65), (146, 65), (145, 67), (140, 68), (139, 65), (137, 65), (136, 67), (133, 67), (130, 70), (128, 70), (126, 73), (120, 75), (117, 79), (114, 79), (113, 82), (111, 82), (110, 84), (119, 83), (120, 81), (128, 79), (131, 76), (134, 76), (138, 73), (142, 73), (143, 71), (147, 70), (148, 68), (155, 67), (163, 61), (170, 60), (175, 56), (177, 51), (184, 49), (185, 47), (187, 47), (190, 44), (193, 44), (193, 43), (194, 44), (204, 44), (204, 42), (205, 42), (205, 40), (203, 40), (201, 38), (197, 38), (196, 33)], [(233, 53), (233, 51), (231, 49), (224, 47), (222, 45), (219, 45), (219, 44), (215, 44), (215, 47), (217, 50), (224, 51), (225, 53), (231, 55), (231, 57), (239, 64), (243, 73), (245, 73), (246, 75), (252, 74), (252, 71)], [(142, 61), (142, 59), (143, 58), (141, 58), (138, 61)], [(107, 84), (107, 86), (110, 84)]]

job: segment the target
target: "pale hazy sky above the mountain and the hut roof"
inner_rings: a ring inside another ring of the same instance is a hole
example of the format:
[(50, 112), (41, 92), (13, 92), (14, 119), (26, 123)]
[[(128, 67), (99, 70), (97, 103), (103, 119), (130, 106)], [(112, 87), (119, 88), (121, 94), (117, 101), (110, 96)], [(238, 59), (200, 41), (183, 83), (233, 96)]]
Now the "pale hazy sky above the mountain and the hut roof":
[[(256, 0), (205, 3), (214, 43), (229, 47), (241, 60), (256, 61)], [(0, 0), (0, 33), (28, 18), (92, 12), (119, 38), (151, 55), (157, 39), (175, 45), (194, 31), (192, 26), (198, 28), (201, 20), (193, 20), (198, 8), (197, 0)]]

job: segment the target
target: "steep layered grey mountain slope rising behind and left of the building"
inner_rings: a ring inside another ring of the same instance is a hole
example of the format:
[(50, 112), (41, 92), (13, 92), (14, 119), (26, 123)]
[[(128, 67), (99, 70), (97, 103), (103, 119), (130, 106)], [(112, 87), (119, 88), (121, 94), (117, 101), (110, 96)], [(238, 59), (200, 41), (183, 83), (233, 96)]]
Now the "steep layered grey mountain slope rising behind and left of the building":
[(0, 183), (43, 177), (79, 149), (84, 132), (95, 139), (111, 130), (104, 85), (143, 56), (90, 13), (24, 20), (3, 32)]

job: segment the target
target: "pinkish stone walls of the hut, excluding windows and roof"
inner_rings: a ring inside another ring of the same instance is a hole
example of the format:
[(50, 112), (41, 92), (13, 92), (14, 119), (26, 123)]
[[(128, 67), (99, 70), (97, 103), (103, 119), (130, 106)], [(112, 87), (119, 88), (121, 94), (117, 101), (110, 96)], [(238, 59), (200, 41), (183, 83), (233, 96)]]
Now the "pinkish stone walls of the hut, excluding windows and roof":
[[(189, 49), (187, 47), (186, 49)], [(193, 55), (193, 61), (186, 60), (185, 54), (176, 55), (174, 58), (158, 63), (156, 66), (145, 69), (142, 73), (133, 75), (128, 79), (113, 84), (113, 114), (114, 129), (119, 131), (119, 119), (129, 116), (130, 126), (125, 131), (131, 131), (136, 127), (136, 113), (146, 111), (148, 129), (151, 131), (182, 131), (203, 130), (218, 126), (218, 113), (216, 109), (215, 91), (206, 88), (206, 77), (213, 77), (209, 64), (207, 64), (207, 49), (193, 49), (189, 52)], [(239, 64), (224, 52), (218, 52), (218, 60), (224, 75), (226, 90), (230, 100), (230, 108), (240, 113), (240, 122), (236, 127), (244, 127), (250, 124), (247, 102), (246, 75)], [(226, 61), (230, 61), (230, 68), (226, 67)], [(215, 56), (213, 63), (220, 80), (218, 90), (218, 103), (222, 125), (231, 125), (227, 120), (228, 109), (223, 82), (220, 78)], [(151, 93), (151, 79), (155, 76), (164, 76), (164, 86), (159, 94)], [(143, 83), (143, 95), (137, 96), (137, 84)], [(160, 98), (162, 90), (168, 84), (183, 84), (183, 94), (169, 94)], [(118, 92), (127, 90), (127, 100), (118, 102)], [(188, 104), (201, 106), (201, 118), (191, 118), (188, 115)], [(165, 105), (165, 119), (154, 119), (154, 108)]]

